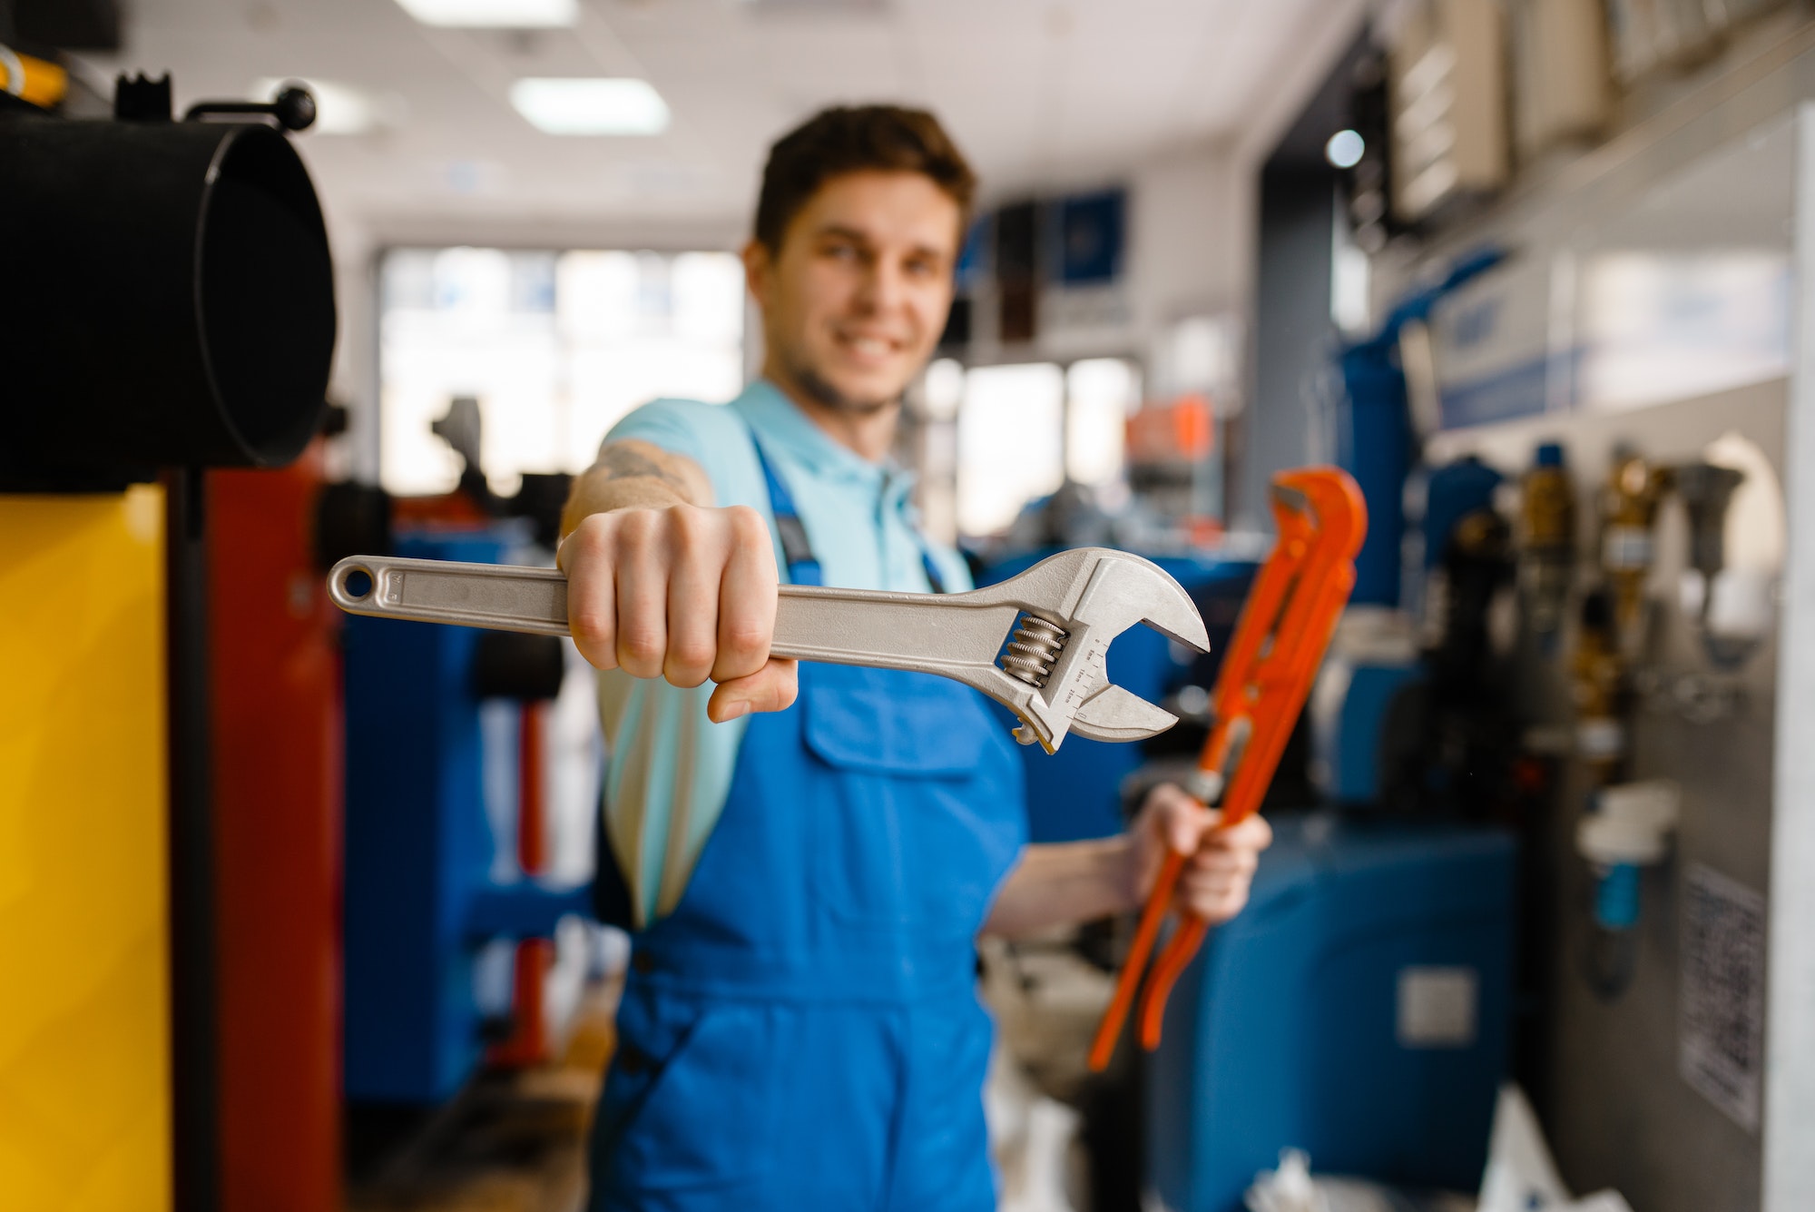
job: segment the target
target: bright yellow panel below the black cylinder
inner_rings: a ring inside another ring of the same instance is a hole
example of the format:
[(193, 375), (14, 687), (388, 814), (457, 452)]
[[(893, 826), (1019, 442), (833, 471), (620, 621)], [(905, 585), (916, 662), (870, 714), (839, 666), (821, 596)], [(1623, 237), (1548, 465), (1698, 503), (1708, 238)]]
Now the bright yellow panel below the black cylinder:
[(0, 495), (0, 1205), (171, 1205), (163, 494)]

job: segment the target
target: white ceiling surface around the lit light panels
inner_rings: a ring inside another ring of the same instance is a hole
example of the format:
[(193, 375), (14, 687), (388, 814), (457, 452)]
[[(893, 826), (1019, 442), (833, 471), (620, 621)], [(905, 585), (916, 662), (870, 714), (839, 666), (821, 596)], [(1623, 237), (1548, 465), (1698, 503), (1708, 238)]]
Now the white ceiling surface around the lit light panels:
[[(935, 109), (993, 194), (1114, 174), (1240, 136), (1339, 0), (581, 0), (566, 31), (417, 25), (392, 0), (129, 0), (96, 73), (171, 71), (178, 103), (314, 76), (394, 123), (305, 134), (347, 230), (693, 223), (742, 230), (768, 142), (831, 102)], [(779, 9), (779, 11), (777, 11)], [(506, 100), (521, 76), (643, 76), (655, 138), (559, 138)]]

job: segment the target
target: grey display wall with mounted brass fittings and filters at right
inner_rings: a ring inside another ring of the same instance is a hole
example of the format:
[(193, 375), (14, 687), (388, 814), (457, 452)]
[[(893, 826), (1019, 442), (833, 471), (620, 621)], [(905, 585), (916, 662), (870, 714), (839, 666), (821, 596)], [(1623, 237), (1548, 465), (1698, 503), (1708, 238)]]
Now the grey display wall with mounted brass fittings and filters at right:
[[(1790, 677), (1808, 639), (1768, 588), (1808, 577), (1777, 526), (1797, 533), (1815, 475), (1790, 321), (1810, 96), (1815, 54), (1786, 53), (1623, 136), (1457, 236), (1516, 256), (1432, 316), (1447, 428), (1427, 454), (1525, 474), (1510, 693), (1559, 773), (1525, 878), (1539, 983), (1517, 1072), (1568, 1187), (1655, 1212), (1815, 1197), (1795, 1143), (1815, 1129), (1799, 1110), (1815, 1051), (1791, 992), (1811, 971), (1797, 898), (1815, 853), (1806, 802), (1784, 797), (1808, 786)], [(1737, 468), (1735, 450), (1762, 510), (1732, 506), (1710, 577), (1697, 533), (1730, 477), (1699, 468)], [(1748, 570), (1759, 548), (1733, 544), (1773, 530), (1775, 564)], [(1766, 1016), (1764, 989), (1788, 1014)]]

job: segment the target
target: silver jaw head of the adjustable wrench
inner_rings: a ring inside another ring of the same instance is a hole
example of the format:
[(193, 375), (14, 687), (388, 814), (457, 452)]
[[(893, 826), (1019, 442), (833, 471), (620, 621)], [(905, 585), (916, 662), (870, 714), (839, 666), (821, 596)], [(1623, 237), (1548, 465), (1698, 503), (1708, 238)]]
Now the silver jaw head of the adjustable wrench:
[(1044, 684), (1020, 686), (1018, 702), (1009, 704), (1022, 720), (1016, 740), (1055, 753), (1067, 733), (1089, 740), (1145, 740), (1178, 722), (1171, 711), (1111, 682), (1105, 668), (1109, 644), (1136, 622), (1185, 648), (1209, 651), (1203, 619), (1178, 581), (1138, 555), (1104, 548), (1055, 555), (1022, 577), (1055, 590), (1062, 584), (1058, 597), (1069, 608), (1031, 601), (1024, 606), (1064, 631), (1064, 640)]

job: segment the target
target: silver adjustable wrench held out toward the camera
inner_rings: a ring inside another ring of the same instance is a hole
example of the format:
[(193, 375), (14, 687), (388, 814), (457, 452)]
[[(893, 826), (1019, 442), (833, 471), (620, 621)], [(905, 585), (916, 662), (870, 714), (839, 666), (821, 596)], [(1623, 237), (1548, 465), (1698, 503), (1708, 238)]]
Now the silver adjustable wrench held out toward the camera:
[[(568, 633), (555, 568), (350, 555), (329, 572), (329, 597), (379, 619)], [(784, 584), (770, 655), (955, 679), (1013, 711), (1016, 740), (1053, 753), (1065, 733), (1143, 740), (1178, 722), (1104, 670), (1109, 642), (1136, 622), (1209, 650), (1191, 595), (1160, 566), (1078, 548), (967, 593)]]

